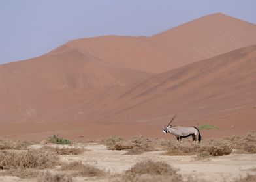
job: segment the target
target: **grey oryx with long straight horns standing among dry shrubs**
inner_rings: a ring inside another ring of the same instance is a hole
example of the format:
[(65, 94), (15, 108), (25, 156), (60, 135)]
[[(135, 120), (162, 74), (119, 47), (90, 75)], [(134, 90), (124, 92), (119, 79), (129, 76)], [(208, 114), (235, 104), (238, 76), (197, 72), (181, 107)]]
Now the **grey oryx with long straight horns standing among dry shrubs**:
[[(172, 123), (176, 116), (177, 115), (175, 114), (172, 120), (170, 120), (170, 123)], [(182, 138), (187, 138), (192, 135), (193, 142), (197, 143), (198, 141), (200, 143), (201, 135), (199, 129), (197, 129), (196, 127), (172, 126), (170, 123), (167, 125), (167, 127), (165, 127), (163, 133), (172, 133), (172, 135), (177, 137), (178, 142), (182, 142)]]

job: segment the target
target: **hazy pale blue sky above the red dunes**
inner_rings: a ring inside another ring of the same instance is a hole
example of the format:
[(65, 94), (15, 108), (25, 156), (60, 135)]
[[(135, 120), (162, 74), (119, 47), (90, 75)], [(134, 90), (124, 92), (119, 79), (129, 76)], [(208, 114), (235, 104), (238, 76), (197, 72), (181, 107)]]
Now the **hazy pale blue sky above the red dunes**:
[(256, 24), (255, 7), (254, 0), (0, 0), (0, 64), (76, 38), (151, 36), (216, 12)]

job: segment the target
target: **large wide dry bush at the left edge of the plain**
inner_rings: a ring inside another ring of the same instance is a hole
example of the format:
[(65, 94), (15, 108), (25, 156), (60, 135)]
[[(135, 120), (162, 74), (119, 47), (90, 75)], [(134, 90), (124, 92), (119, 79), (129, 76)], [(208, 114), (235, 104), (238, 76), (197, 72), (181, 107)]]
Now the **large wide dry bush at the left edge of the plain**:
[(28, 151), (0, 152), (0, 169), (18, 169), (18, 168), (50, 168), (57, 164), (59, 157), (50, 151), (30, 149)]

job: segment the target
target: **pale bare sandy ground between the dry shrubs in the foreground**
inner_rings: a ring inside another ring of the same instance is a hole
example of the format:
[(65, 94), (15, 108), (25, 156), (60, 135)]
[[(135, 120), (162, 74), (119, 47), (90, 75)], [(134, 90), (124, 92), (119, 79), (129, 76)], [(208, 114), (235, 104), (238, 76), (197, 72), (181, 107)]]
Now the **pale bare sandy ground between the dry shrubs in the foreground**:
[[(38, 148), (40, 146), (34, 146)], [(97, 168), (105, 169), (111, 174), (121, 174), (131, 168), (136, 162), (152, 159), (153, 161), (164, 161), (178, 169), (186, 181), (189, 177), (197, 180), (207, 181), (234, 181), (234, 179), (255, 174), (256, 155), (253, 154), (231, 154), (222, 157), (212, 157), (198, 161), (195, 156), (167, 156), (164, 151), (152, 151), (141, 155), (124, 155), (126, 151), (110, 151), (106, 146), (89, 143), (78, 144), (78, 147), (86, 148), (81, 155), (61, 156), (61, 161), (81, 161), (83, 164), (91, 164)], [(20, 179), (19, 177), (0, 177), (0, 181), (37, 181), (37, 179)], [(73, 181), (108, 181), (104, 178), (74, 177)]]

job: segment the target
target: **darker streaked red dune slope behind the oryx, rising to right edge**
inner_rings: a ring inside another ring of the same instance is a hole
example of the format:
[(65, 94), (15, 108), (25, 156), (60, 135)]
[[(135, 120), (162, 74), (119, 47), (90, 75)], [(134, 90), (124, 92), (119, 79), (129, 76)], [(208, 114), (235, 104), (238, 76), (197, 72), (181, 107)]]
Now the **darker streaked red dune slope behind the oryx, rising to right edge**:
[(170, 114), (178, 114), (177, 120), (198, 125), (199, 118), (200, 124), (210, 122), (204, 121), (206, 116), (251, 110), (249, 118), (225, 122), (233, 125), (232, 122), (238, 124), (242, 120), (242, 125), (254, 125), (256, 129), (255, 60), (256, 45), (251, 45), (157, 74), (121, 93), (109, 109), (95, 115), (102, 122), (140, 122), (161, 127)]

